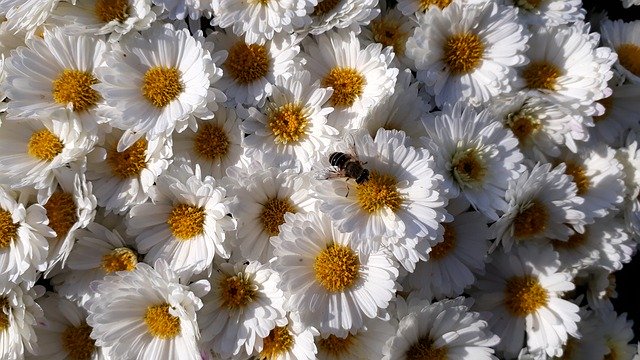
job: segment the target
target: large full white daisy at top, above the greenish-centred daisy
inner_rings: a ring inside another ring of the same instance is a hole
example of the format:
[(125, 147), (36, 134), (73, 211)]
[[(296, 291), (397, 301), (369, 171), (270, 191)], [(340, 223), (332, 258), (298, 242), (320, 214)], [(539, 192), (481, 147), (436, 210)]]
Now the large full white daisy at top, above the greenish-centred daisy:
[(436, 105), (457, 100), (478, 105), (513, 90), (515, 68), (526, 63), (529, 37), (513, 7), (454, 2), (442, 11), (431, 8), (418, 20), (407, 40), (407, 56)]

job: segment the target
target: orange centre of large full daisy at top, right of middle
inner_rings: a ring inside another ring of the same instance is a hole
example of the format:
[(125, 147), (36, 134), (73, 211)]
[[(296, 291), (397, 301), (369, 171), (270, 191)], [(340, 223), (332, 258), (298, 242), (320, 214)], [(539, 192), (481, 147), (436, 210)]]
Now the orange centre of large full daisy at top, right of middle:
[(455, 75), (468, 74), (480, 66), (484, 56), (482, 39), (473, 33), (461, 33), (447, 38), (442, 61)]

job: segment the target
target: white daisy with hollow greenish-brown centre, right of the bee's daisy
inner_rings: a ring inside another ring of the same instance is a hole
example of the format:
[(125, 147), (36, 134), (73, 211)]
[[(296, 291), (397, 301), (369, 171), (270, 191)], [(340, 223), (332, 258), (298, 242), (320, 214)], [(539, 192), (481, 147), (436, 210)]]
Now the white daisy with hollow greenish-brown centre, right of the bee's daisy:
[(464, 197), (492, 220), (507, 209), (504, 193), (525, 170), (518, 141), (485, 109), (463, 102), (445, 104), (435, 118), (423, 118), (424, 143), (436, 156), (449, 196)]

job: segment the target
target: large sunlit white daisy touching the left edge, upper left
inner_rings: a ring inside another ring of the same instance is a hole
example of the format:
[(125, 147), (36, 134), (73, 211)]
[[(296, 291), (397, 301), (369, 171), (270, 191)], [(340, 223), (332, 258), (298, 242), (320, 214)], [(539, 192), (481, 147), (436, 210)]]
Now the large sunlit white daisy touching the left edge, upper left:
[(45, 31), (43, 38), (26, 40), (26, 45), (5, 63), (9, 118), (48, 117), (68, 109), (80, 119), (81, 129), (76, 131), (96, 131), (103, 99), (93, 86), (98, 83), (95, 70), (104, 61), (105, 42), (55, 28)]

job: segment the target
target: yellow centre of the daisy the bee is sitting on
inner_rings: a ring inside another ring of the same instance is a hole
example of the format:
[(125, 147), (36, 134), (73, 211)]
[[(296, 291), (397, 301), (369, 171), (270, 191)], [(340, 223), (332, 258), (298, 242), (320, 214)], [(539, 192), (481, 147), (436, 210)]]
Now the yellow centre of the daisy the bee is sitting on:
[(369, 180), (357, 185), (357, 197), (360, 207), (374, 213), (383, 207), (396, 212), (400, 209), (404, 197), (398, 191), (398, 181), (388, 174), (372, 171)]

